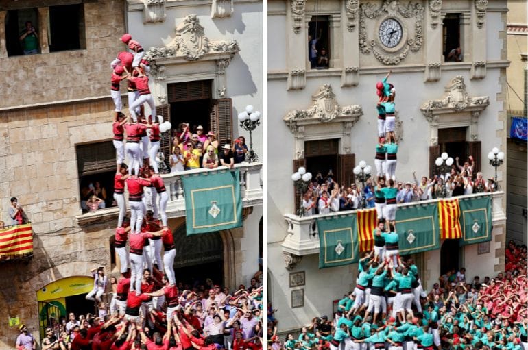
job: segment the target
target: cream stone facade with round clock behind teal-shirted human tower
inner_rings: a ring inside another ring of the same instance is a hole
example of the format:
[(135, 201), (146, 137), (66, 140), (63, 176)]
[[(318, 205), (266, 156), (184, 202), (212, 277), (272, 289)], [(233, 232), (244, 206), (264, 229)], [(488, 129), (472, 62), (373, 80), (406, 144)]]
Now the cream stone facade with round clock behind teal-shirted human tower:
[[(376, 82), (392, 70), (396, 179), (413, 181), (413, 171), (418, 179), (436, 174), (434, 161), (442, 152), (472, 155), (478, 171), (494, 175), (488, 152), (506, 149), (507, 11), (506, 1), (268, 1), (274, 47), (268, 54), (268, 101), (269, 114), (276, 116), (269, 129), (282, 142), (268, 147), (267, 272), (281, 334), (314, 316), (330, 316), (333, 301), (354, 287), (357, 275), (357, 264), (318, 268), (315, 218), (296, 216), (291, 174), (299, 166), (314, 176), (332, 169), (348, 185), (360, 160), (374, 168)], [(328, 64), (310, 62), (314, 39)], [(461, 60), (448, 62), (457, 47)], [(506, 163), (498, 169), (502, 188)], [(468, 245), (451, 255), (470, 277), (503, 270), (506, 201), (497, 196), (489, 253)], [(446, 260), (449, 243), (440, 245), (413, 257), (425, 288)], [(302, 285), (289, 284), (295, 274), (305, 276)]]

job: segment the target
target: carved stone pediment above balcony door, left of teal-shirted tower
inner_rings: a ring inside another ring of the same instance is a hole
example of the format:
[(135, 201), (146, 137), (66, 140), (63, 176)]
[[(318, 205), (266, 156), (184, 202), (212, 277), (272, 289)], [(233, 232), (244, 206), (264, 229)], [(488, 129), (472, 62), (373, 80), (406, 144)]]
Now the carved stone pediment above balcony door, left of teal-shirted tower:
[(283, 120), (296, 139), (296, 159), (304, 157), (304, 141), (340, 138), (341, 154), (352, 152), (350, 133), (363, 115), (361, 105), (341, 107), (330, 84), (320, 86), (306, 110), (293, 110)]

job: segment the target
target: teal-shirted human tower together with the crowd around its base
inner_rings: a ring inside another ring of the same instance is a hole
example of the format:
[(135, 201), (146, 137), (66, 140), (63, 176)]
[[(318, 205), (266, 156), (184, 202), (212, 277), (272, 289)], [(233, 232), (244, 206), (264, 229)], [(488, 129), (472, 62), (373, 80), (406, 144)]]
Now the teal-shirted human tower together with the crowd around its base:
[(339, 301), (334, 319), (315, 317), (298, 338), (289, 334), (281, 342), (276, 336), (278, 321), (268, 315), (269, 349), (527, 350), (526, 268), (514, 276), (510, 273), (508, 279), (499, 274), (500, 284), (493, 279), (489, 285), (479, 284), (478, 277), (477, 284), (466, 283), (464, 269), (449, 271), (439, 279), (442, 286), (435, 284), (426, 295), (413, 259), (400, 257), (394, 186), (396, 89), (387, 82), (389, 75), (376, 84), (374, 249), (363, 253), (355, 290)]

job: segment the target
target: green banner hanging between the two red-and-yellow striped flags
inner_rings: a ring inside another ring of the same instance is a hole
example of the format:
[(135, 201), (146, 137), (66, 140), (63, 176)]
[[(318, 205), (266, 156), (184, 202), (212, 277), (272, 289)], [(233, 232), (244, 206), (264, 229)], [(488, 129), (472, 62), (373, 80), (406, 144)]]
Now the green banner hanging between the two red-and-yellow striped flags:
[(398, 207), (396, 232), (400, 255), (439, 249), (438, 204)]

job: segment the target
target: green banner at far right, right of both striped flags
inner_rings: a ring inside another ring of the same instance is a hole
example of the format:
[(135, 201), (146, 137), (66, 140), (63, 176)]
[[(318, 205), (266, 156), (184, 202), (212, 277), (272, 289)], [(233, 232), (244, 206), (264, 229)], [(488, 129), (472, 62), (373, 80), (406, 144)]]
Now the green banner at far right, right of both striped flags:
[(459, 199), (462, 238), (459, 245), (488, 242), (492, 239), (491, 195)]

